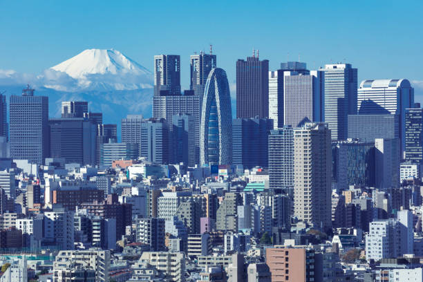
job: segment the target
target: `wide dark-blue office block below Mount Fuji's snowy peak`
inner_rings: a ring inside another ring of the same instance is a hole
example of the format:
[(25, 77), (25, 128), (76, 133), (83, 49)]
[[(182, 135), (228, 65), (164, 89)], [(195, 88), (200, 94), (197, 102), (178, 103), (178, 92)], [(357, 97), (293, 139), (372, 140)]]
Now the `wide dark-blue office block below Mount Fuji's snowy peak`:
[(66, 163), (97, 164), (97, 126), (84, 118), (51, 118), (50, 157)]

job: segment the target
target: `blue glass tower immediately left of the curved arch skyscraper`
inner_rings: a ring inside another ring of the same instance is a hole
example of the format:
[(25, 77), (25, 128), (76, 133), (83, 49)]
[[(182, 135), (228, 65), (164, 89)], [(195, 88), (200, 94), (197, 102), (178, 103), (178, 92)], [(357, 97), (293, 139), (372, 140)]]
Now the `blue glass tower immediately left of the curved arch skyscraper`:
[(183, 162), (189, 167), (194, 167), (196, 164), (196, 122), (194, 117), (189, 114), (173, 115), (172, 127), (172, 163)]

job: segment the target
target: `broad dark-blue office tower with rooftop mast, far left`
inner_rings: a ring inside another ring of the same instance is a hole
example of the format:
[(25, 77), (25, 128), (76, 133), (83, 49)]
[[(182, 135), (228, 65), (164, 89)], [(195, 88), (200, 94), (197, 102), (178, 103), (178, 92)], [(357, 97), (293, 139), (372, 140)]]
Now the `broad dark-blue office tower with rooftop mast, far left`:
[(49, 153), (48, 97), (35, 96), (28, 86), (10, 97), (10, 156), (43, 164)]

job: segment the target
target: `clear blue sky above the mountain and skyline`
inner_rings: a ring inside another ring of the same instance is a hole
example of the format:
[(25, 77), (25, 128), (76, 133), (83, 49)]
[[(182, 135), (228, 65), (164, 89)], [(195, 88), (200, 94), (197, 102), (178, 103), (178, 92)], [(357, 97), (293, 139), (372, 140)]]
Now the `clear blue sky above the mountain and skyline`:
[(310, 69), (346, 60), (360, 81), (405, 77), (419, 93), (422, 11), (421, 0), (0, 0), (0, 69), (40, 73), (86, 48), (115, 48), (151, 70), (153, 55), (172, 53), (187, 87), (189, 55), (213, 44), (229, 82), (256, 48), (272, 69), (288, 54)]

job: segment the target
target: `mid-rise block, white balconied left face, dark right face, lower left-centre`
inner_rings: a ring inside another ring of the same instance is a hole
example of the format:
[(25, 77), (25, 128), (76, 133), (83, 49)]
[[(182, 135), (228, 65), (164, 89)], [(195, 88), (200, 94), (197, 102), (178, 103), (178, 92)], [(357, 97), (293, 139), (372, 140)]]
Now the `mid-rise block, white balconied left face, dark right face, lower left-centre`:
[(149, 245), (153, 252), (164, 250), (163, 218), (137, 218), (135, 223), (137, 242)]

